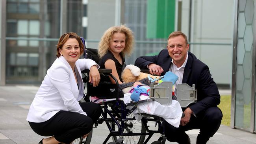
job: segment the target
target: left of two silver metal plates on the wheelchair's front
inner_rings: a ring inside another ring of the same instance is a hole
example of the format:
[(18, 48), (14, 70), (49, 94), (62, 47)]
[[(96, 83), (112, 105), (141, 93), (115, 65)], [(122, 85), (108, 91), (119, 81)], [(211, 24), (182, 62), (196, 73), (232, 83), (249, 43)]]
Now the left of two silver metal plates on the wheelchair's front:
[(150, 83), (150, 98), (162, 105), (172, 104), (173, 83), (163, 81), (158, 85)]

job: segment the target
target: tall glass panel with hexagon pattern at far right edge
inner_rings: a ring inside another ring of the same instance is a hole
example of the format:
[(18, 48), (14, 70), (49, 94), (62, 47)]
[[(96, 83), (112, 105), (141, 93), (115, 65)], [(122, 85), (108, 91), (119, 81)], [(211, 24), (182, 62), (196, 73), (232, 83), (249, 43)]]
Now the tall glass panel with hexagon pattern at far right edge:
[(255, 0), (236, 0), (231, 126), (256, 131)]

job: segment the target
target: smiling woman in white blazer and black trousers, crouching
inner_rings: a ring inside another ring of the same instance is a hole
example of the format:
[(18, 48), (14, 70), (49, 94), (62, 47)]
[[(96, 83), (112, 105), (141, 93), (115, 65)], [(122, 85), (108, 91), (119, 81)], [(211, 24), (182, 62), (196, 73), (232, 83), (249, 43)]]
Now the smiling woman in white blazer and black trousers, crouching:
[(35, 133), (51, 136), (39, 144), (70, 144), (86, 137), (101, 114), (96, 103), (78, 103), (83, 97), (81, 70), (90, 69), (89, 82), (100, 81), (99, 65), (91, 59), (79, 59), (83, 44), (76, 33), (65, 33), (57, 44), (57, 59), (30, 105), (27, 120)]

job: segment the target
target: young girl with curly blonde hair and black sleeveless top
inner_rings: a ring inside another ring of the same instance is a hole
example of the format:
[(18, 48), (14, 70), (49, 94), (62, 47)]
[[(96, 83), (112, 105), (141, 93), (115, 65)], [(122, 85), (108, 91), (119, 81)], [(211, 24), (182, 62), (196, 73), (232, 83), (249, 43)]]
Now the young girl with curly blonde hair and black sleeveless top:
[[(121, 74), (125, 68), (124, 55), (130, 55), (133, 50), (134, 37), (132, 30), (124, 25), (109, 28), (102, 36), (98, 55), (100, 57), (100, 68), (112, 69), (112, 75), (117, 78), (119, 89), (130, 87), (134, 82), (123, 83)], [(113, 78), (105, 78), (102, 81), (115, 83)], [(148, 84), (147, 79), (142, 79), (141, 83)]]

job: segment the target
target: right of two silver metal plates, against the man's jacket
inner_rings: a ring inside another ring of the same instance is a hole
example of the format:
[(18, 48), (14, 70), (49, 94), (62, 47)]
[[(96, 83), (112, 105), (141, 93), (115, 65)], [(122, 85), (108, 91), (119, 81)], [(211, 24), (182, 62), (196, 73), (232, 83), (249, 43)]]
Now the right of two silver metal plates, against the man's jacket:
[(193, 84), (190, 87), (187, 83), (177, 85), (177, 101), (181, 107), (187, 107), (191, 103), (197, 102), (197, 90)]

